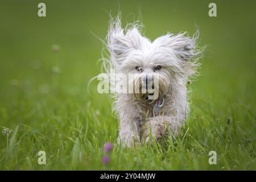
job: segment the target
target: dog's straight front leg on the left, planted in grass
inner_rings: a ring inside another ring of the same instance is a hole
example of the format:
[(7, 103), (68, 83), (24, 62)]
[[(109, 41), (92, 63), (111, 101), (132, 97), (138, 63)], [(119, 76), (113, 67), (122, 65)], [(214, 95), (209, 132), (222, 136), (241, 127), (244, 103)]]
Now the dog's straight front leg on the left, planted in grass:
[(133, 121), (127, 121), (121, 119), (118, 143), (124, 144), (127, 147), (135, 146), (139, 143), (139, 133), (141, 131), (141, 126), (137, 119)]

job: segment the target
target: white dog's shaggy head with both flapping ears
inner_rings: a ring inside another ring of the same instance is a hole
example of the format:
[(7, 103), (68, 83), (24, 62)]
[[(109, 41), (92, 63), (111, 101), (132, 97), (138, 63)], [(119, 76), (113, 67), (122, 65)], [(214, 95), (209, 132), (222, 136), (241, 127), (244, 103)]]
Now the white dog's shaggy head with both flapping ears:
[(154, 101), (196, 72), (197, 63), (192, 61), (200, 53), (195, 50), (196, 38), (167, 34), (151, 42), (137, 27), (123, 30), (115, 23), (109, 30), (108, 47), (115, 71), (133, 75), (128, 86), (133, 86), (134, 97)]

